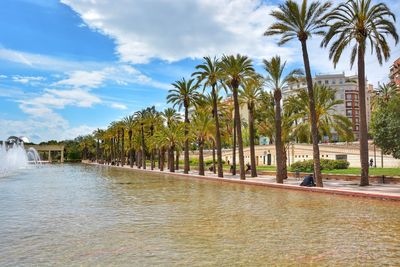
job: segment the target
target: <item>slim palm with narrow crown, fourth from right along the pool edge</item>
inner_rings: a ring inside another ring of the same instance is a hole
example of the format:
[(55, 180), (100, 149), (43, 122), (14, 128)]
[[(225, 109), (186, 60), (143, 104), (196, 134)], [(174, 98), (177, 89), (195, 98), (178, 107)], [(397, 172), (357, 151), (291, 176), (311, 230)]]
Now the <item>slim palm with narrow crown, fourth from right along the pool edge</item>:
[(249, 112), (249, 141), (250, 141), (250, 162), (251, 162), (251, 177), (257, 177), (257, 166), (256, 166), (256, 153), (255, 153), (255, 129), (254, 129), (254, 111), (260, 94), (262, 92), (262, 86), (264, 79), (260, 75), (254, 75), (246, 79), (241, 89), (239, 90), (239, 100), (241, 103), (247, 105)]

